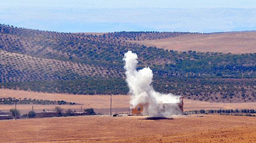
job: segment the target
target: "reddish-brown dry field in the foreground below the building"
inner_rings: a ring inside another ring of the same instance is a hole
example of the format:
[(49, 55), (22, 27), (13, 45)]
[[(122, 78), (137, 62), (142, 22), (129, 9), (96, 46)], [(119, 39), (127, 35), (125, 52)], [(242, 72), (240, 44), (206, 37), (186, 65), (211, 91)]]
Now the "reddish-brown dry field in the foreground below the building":
[(0, 121), (1, 142), (255, 143), (255, 117), (81, 116)]

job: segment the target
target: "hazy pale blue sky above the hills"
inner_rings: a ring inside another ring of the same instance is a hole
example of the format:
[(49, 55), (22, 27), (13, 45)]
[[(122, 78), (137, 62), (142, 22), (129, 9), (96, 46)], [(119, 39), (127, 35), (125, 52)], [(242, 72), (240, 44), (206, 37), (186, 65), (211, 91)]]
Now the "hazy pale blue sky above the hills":
[(256, 0), (6, 0), (0, 23), (58, 32), (247, 31), (256, 30)]

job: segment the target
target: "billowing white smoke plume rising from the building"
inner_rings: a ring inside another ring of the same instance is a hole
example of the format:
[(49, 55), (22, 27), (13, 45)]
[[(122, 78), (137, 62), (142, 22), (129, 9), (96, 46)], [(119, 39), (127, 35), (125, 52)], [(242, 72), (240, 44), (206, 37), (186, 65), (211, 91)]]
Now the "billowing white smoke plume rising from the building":
[(171, 93), (162, 94), (156, 92), (151, 85), (153, 78), (152, 70), (149, 67), (145, 67), (137, 71), (137, 58), (137, 54), (132, 51), (125, 53), (123, 58), (126, 62), (124, 66), (124, 69), (126, 69), (126, 82), (132, 95), (130, 104), (133, 107), (140, 103), (145, 105), (143, 107), (143, 114), (151, 117), (166, 117), (172, 114), (180, 114), (181, 110), (175, 104), (180, 102), (179, 96)]

